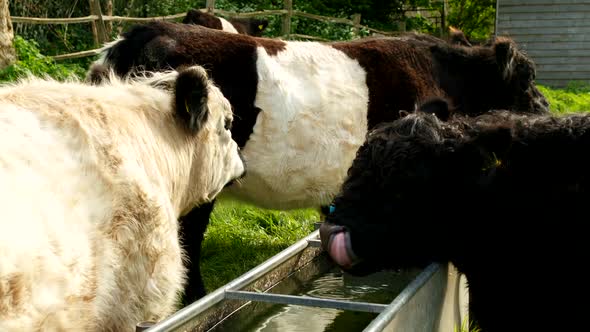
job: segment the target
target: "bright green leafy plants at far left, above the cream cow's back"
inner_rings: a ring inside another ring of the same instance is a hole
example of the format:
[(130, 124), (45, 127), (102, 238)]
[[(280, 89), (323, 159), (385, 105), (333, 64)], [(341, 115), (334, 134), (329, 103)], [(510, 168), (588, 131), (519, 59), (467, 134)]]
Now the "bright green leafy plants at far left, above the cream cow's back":
[(25, 40), (21, 36), (14, 37), (17, 62), (0, 71), (0, 81), (14, 81), (18, 78), (33, 74), (48, 75), (57, 80), (65, 80), (71, 76), (83, 78), (86, 71), (76, 64), (58, 64), (50, 57), (39, 51), (39, 45), (34, 40)]

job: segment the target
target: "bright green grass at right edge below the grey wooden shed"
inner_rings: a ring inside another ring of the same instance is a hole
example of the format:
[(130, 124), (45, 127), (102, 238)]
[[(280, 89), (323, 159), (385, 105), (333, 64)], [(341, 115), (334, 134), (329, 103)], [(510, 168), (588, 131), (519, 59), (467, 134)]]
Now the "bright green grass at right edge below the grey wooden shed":
[(537, 86), (549, 101), (552, 112), (558, 114), (590, 112), (590, 84), (570, 83), (564, 89)]

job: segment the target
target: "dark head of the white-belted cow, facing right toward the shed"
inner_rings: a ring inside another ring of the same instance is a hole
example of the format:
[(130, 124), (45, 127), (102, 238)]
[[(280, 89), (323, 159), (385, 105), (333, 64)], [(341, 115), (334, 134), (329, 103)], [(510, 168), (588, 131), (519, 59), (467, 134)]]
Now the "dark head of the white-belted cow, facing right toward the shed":
[(534, 82), (533, 61), (511, 39), (497, 37), (472, 47), (437, 44), (431, 51), (441, 87), (459, 112), (549, 113), (549, 103)]

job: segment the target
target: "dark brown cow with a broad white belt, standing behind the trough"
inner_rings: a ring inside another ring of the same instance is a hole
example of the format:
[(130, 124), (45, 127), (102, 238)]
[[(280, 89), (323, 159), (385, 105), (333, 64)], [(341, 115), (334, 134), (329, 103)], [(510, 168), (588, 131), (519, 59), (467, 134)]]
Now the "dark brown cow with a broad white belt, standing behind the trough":
[[(327, 206), (367, 130), (414, 111), (430, 95), (470, 115), (549, 111), (533, 62), (507, 38), (487, 47), (421, 34), (319, 43), (153, 22), (125, 32), (95, 64), (120, 76), (203, 65), (232, 104), (232, 135), (248, 165), (248, 175), (223, 196), (271, 209)], [(183, 217), (193, 239), (187, 301), (205, 294), (198, 259), (212, 209)]]

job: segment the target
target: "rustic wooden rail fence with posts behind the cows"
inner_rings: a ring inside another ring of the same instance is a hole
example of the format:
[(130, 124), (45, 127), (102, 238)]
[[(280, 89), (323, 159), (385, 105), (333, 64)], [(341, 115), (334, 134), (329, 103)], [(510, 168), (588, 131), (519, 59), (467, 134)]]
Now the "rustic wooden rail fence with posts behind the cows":
[[(283, 0), (283, 9), (277, 10), (262, 10), (256, 12), (248, 12), (248, 13), (237, 13), (237, 12), (230, 12), (221, 9), (215, 8), (215, 0), (207, 0), (206, 8), (200, 9), (203, 12), (208, 12), (212, 14), (219, 14), (225, 17), (232, 17), (232, 18), (248, 18), (248, 17), (255, 17), (255, 16), (273, 16), (273, 15), (281, 15), (282, 16), (282, 29), (281, 29), (281, 36), (278, 38), (283, 39), (292, 39), (292, 38), (302, 38), (302, 39), (311, 39), (311, 40), (321, 40), (327, 41), (326, 39), (315, 37), (315, 36), (308, 36), (308, 35), (301, 35), (291, 32), (291, 19), (293, 17), (304, 17), (309, 18), (312, 20), (328, 22), (328, 23), (341, 23), (345, 25), (349, 25), (353, 27), (354, 34), (356, 36), (360, 35), (360, 29), (366, 29), (372, 33), (377, 33), (381, 35), (395, 35), (396, 32), (392, 31), (381, 31), (378, 29), (371, 28), (366, 25), (360, 24), (361, 15), (354, 14), (352, 15), (351, 19), (341, 18), (341, 17), (330, 17), (330, 16), (322, 16), (322, 15), (315, 15), (309, 14), (302, 11), (294, 10), (293, 9), (293, 1), (292, 0)], [(100, 7), (99, 0), (90, 0), (90, 15), (84, 17), (75, 17), (75, 18), (32, 18), (32, 17), (20, 17), (20, 16), (12, 16), (11, 20), (13, 23), (25, 23), (25, 24), (76, 24), (76, 23), (90, 23), (92, 24), (92, 31), (94, 34), (95, 44), (102, 45), (103, 43), (110, 40), (110, 22), (130, 22), (130, 23), (142, 23), (142, 22), (149, 22), (149, 21), (157, 21), (157, 20), (166, 20), (166, 21), (174, 21), (183, 18), (186, 16), (186, 13), (168, 15), (168, 16), (158, 16), (158, 17), (125, 17), (125, 16), (113, 16), (113, 15), (103, 15), (102, 9)], [(87, 56), (97, 55), (100, 49), (92, 49), (87, 51), (80, 51), (68, 54), (61, 54), (53, 56), (55, 60), (64, 60), (64, 59), (74, 59), (74, 58), (81, 58)]]

